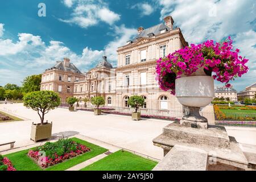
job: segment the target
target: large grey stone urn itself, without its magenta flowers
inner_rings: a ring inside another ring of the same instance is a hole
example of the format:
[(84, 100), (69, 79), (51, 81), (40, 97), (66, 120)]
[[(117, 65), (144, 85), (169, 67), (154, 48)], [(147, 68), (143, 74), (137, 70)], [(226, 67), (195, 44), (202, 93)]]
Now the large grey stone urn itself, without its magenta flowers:
[(181, 119), (180, 124), (208, 129), (207, 118), (199, 114), (199, 109), (210, 104), (214, 97), (211, 72), (200, 68), (190, 76), (181, 75), (175, 80), (175, 91), (180, 104), (189, 109), (189, 114)]

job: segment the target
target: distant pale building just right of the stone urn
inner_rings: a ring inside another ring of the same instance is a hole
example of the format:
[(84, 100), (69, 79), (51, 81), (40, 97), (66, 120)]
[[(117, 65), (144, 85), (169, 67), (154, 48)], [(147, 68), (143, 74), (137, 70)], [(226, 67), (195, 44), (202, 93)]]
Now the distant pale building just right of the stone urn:
[(225, 86), (217, 86), (214, 88), (215, 98), (229, 98), (230, 101), (237, 101), (237, 90), (233, 88), (225, 88)]

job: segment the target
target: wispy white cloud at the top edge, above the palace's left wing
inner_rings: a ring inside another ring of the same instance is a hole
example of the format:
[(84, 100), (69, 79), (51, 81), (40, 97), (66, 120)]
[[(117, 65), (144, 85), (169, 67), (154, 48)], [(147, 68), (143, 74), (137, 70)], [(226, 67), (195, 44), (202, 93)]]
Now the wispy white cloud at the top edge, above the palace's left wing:
[(72, 7), (73, 13), (71, 18), (62, 19), (65, 23), (74, 23), (82, 28), (87, 28), (89, 26), (94, 26), (100, 21), (112, 25), (120, 19), (120, 15), (109, 10), (108, 5), (101, 0), (76, 0), (71, 3), (64, 1), (67, 7)]

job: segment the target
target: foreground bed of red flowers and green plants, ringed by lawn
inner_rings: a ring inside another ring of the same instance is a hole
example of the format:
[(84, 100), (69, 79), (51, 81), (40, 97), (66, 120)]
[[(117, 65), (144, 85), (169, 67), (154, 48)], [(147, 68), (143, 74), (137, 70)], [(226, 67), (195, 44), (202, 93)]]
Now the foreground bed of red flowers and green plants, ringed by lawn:
[(28, 151), (28, 156), (34, 159), (40, 167), (47, 168), (88, 151), (90, 148), (71, 139), (60, 139), (57, 142), (47, 142), (43, 146)]

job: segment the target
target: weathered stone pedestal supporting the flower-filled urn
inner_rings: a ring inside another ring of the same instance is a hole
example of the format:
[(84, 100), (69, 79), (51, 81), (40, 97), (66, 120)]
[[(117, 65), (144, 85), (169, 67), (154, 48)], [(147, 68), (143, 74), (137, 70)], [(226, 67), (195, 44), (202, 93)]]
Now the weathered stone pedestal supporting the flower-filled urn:
[[(198, 170), (253, 168), (239, 143), (228, 136), (225, 127), (209, 125), (208, 129), (199, 129), (172, 123), (164, 127), (163, 134), (156, 137), (153, 143), (164, 150), (164, 159), (154, 170), (195, 170), (195, 166)], [(177, 152), (181, 148), (182, 152)], [(195, 162), (193, 155), (196, 154), (199, 156)]]

